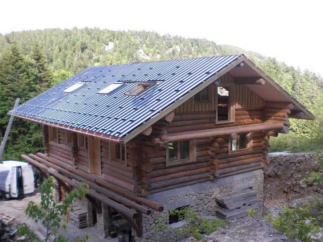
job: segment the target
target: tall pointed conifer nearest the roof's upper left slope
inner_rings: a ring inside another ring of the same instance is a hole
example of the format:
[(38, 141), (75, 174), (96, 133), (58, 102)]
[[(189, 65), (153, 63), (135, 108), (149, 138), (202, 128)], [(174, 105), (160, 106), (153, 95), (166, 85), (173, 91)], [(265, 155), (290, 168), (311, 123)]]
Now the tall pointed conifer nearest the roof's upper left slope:
[(48, 69), (46, 58), (42, 52), (39, 42), (32, 47), (31, 57), (33, 59), (33, 68), (35, 69), (36, 82), (40, 87), (46, 88), (50, 86), (52, 74)]

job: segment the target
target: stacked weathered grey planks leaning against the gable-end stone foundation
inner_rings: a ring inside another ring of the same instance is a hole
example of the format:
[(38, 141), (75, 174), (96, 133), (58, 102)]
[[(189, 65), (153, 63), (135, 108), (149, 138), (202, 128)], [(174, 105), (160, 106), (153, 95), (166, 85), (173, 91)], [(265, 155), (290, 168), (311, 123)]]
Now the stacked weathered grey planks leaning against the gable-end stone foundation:
[(242, 218), (247, 215), (248, 209), (258, 208), (256, 193), (249, 188), (220, 195), (216, 201), (217, 216), (226, 221)]

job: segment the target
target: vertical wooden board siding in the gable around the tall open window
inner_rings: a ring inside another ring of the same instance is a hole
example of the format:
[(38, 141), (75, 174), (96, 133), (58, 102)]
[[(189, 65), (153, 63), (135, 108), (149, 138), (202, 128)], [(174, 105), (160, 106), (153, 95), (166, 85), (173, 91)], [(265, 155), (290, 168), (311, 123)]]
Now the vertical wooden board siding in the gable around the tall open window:
[[(221, 77), (222, 84), (234, 83), (234, 77), (227, 73)], [(177, 107), (175, 113), (194, 113), (194, 112), (213, 112), (216, 110), (216, 95), (214, 91), (216, 86), (211, 84), (210, 87), (211, 103), (195, 104), (194, 97), (184, 102), (182, 105)], [(265, 101), (250, 90), (246, 85), (236, 85), (234, 95), (234, 102), (236, 104), (236, 109), (261, 109), (264, 107)]]

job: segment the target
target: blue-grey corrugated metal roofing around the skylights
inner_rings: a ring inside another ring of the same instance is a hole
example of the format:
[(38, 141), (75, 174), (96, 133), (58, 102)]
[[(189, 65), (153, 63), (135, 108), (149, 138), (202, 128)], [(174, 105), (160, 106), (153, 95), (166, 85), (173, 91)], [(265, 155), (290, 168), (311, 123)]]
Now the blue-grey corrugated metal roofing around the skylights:
[[(15, 113), (64, 127), (124, 137), (241, 55), (177, 59), (90, 67), (17, 107)], [(138, 96), (123, 84), (109, 94), (99, 90), (118, 81), (160, 81)], [(78, 82), (86, 85), (64, 90)]]

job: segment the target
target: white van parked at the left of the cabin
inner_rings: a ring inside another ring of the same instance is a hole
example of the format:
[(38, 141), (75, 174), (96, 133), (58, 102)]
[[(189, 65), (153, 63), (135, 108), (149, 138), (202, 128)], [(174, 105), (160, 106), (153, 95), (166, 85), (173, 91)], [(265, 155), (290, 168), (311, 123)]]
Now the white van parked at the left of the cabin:
[(3, 161), (0, 164), (0, 191), (7, 198), (25, 197), (35, 191), (34, 172), (22, 161)]

